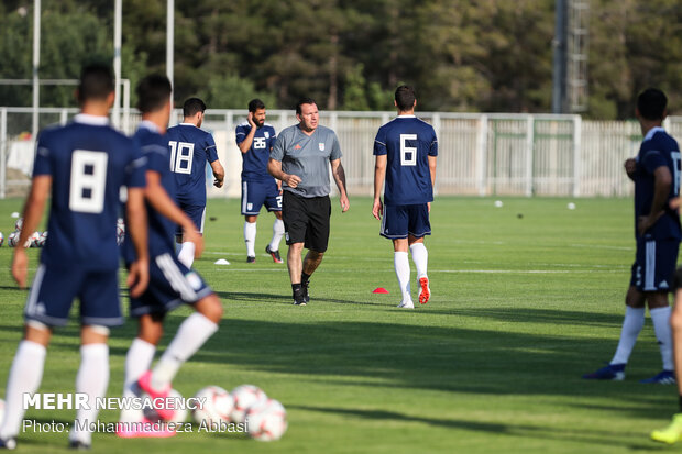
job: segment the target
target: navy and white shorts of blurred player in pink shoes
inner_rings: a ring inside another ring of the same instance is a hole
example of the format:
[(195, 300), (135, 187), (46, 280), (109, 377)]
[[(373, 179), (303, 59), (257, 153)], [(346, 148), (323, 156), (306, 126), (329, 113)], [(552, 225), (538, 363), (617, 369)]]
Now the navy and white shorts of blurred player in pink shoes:
[(139, 298), (130, 298), (130, 315), (166, 313), (212, 292), (197, 272), (183, 265), (175, 254), (165, 253), (150, 261), (150, 285)]

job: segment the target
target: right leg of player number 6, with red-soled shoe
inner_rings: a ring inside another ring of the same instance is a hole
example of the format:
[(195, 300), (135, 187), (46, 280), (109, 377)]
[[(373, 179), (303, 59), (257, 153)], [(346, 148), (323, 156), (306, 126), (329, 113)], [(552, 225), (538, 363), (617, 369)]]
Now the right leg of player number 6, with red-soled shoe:
[(427, 274), (429, 252), (424, 244), (424, 237), (431, 234), (429, 222), (429, 209), (427, 203), (408, 207), (408, 232), (407, 241), (413, 262), (417, 268), (417, 286), (419, 288), (419, 302), (426, 304), (431, 298), (429, 276)]

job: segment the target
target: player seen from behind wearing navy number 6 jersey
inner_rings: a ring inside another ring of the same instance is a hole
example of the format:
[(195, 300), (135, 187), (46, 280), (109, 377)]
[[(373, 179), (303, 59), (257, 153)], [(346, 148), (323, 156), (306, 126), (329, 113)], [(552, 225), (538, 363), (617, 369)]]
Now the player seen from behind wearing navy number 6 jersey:
[[(419, 302), (426, 304), (431, 297), (427, 276), (429, 254), (424, 237), (431, 234), (429, 213), (433, 201), (438, 141), (433, 128), (415, 117), (417, 98), (413, 87), (398, 87), (394, 102), (398, 117), (380, 128), (374, 140), (376, 163), (372, 214), (382, 221), (380, 234), (393, 240), (393, 263), (403, 294), (398, 308), (414, 309), (408, 248), (417, 267)], [(384, 180), (386, 189), (382, 203)]]

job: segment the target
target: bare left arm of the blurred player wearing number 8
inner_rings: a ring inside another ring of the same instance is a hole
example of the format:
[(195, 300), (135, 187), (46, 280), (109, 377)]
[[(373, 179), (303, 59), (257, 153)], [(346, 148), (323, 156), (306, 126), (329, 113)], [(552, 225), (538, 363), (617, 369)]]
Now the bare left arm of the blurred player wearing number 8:
[(37, 175), (33, 177), (31, 184), (31, 192), (26, 199), (23, 212), (23, 226), (21, 234), (19, 235), (18, 247), (14, 248), (14, 258), (12, 259), (12, 276), (19, 287), (26, 286), (26, 275), (29, 269), (29, 258), (26, 257), (26, 251), (21, 245), (26, 244), (29, 236), (35, 232), (35, 228), (41, 222), (43, 211), (45, 210), (45, 202), (50, 195), (50, 188), (52, 187), (52, 176)]

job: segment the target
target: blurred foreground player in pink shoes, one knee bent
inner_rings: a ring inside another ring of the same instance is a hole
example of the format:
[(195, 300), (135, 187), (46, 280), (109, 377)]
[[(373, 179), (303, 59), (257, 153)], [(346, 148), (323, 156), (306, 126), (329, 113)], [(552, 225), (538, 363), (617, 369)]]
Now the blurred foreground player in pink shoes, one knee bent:
[[(201, 277), (186, 267), (174, 254), (175, 225), (183, 226), (187, 241), (201, 253), (204, 241), (194, 222), (174, 203), (175, 178), (169, 163), (172, 152), (162, 134), (172, 111), (170, 82), (165, 76), (147, 76), (138, 86), (138, 108), (142, 123), (133, 141), (147, 157), (145, 198), (147, 203), (150, 286), (144, 294), (130, 300), (130, 313), (139, 319), (138, 336), (125, 356), (124, 397), (134, 397), (139, 389), (153, 399), (166, 398), (179, 367), (218, 330), (222, 306)], [(134, 251), (124, 242), (125, 262), (134, 259)], [(156, 345), (163, 335), (165, 315), (182, 303), (195, 313), (179, 326), (175, 337), (153, 370), (147, 370)], [(170, 419), (173, 409), (157, 408), (162, 419)], [(124, 410), (117, 434), (121, 438), (170, 436), (167, 428), (155, 430), (141, 411)]]

